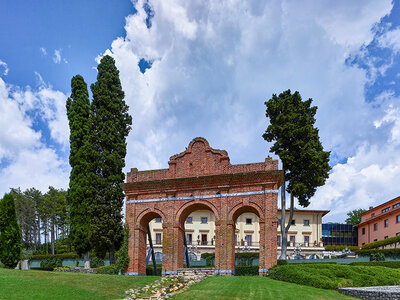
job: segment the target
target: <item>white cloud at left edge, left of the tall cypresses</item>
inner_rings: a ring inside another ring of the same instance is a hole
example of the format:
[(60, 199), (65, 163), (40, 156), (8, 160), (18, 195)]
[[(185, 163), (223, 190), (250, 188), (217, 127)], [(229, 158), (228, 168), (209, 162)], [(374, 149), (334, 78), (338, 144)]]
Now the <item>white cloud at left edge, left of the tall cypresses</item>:
[[(65, 99), (51, 87), (20, 88), (0, 78), (0, 193), (12, 187), (43, 192), (49, 185), (67, 187), (69, 166), (56, 149), (65, 148), (68, 140)], [(48, 127), (50, 140), (43, 126)]]

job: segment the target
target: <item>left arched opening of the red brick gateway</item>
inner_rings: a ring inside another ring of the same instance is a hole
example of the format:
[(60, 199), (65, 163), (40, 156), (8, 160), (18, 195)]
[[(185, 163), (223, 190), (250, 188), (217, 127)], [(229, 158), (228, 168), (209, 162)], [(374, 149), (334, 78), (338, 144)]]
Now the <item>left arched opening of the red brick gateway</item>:
[(140, 219), (140, 240), (146, 247), (139, 251), (140, 265), (145, 266), (146, 275), (161, 275), (163, 258), (163, 218), (161, 213), (149, 212)]

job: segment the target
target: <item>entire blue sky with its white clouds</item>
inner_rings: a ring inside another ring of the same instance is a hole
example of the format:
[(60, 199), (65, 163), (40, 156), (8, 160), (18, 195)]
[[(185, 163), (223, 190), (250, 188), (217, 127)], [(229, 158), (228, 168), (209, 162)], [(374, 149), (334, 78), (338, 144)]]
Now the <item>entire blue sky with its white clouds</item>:
[(400, 1), (1, 1), (0, 192), (68, 186), (70, 80), (116, 59), (133, 116), (127, 167), (168, 167), (203, 136), (263, 161), (264, 101), (319, 107), (326, 221), (400, 194)]

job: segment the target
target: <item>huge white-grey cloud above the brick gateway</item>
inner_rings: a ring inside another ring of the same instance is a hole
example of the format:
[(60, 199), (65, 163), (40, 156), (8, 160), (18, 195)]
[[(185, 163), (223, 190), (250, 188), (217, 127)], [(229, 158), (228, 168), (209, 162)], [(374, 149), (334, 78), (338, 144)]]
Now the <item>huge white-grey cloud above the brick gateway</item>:
[[(167, 167), (169, 156), (195, 136), (228, 150), (232, 163), (262, 161), (270, 146), (261, 138), (268, 125), (263, 103), (288, 88), (319, 107), (321, 139), (337, 165), (330, 182), (343, 168), (357, 170), (352, 161), (378, 151), (376, 145), (393, 135), (394, 123), (384, 121), (388, 101), (381, 100), (382, 106), (366, 101), (371, 78), (346, 62), (374, 39), (375, 26), (392, 9), (390, 0), (134, 5), (137, 13), (126, 18), (126, 36), (106, 51), (116, 59), (133, 115), (127, 168)], [(145, 73), (138, 67), (141, 59), (152, 62)], [(385, 124), (376, 127), (377, 120)], [(369, 157), (359, 162), (359, 170), (374, 166)], [(334, 190), (341, 193), (340, 201), (349, 201), (350, 189), (336, 187), (327, 184), (332, 189), (324, 194), (328, 200), (320, 200), (319, 193), (315, 202), (334, 209)]]

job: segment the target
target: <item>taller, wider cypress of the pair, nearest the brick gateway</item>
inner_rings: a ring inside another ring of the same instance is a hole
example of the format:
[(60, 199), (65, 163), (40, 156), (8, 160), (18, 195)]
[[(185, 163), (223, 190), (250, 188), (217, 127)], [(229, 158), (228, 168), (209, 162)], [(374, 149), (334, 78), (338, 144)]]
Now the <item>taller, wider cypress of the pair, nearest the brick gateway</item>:
[(97, 67), (97, 82), (91, 85), (90, 143), (94, 146), (93, 159), (96, 165), (93, 184), (95, 201), (90, 205), (91, 241), (96, 254), (104, 257), (110, 253), (110, 262), (115, 263), (114, 253), (123, 239), (122, 205), (124, 193), (121, 184), (125, 175), (126, 137), (131, 130), (132, 118), (119, 79), (114, 59), (106, 55)]

